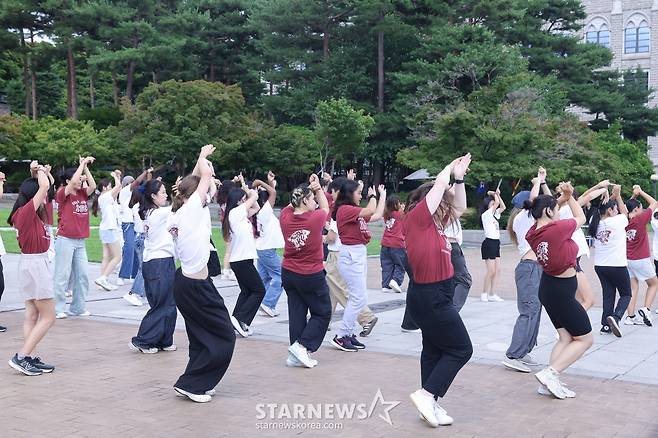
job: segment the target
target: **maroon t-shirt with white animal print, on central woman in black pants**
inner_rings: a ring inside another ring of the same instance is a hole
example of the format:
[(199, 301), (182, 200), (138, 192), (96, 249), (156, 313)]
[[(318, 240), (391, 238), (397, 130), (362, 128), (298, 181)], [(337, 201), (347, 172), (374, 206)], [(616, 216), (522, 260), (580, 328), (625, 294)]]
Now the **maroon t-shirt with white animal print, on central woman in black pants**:
[(282, 266), (297, 274), (315, 274), (324, 269), (322, 230), (327, 213), (318, 209), (295, 214), (289, 205), (281, 210), (279, 223), (285, 239)]

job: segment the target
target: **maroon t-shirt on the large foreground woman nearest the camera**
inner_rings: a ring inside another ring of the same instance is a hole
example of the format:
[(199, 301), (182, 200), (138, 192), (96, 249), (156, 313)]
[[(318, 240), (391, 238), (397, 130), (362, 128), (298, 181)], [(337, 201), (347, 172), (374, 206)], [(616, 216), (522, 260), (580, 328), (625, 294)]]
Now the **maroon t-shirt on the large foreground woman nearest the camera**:
[[(420, 201), (402, 219), (407, 258), (416, 283), (436, 283), (455, 275), (452, 245), (434, 222), (427, 200)], [(343, 238), (340, 235), (341, 240)]]

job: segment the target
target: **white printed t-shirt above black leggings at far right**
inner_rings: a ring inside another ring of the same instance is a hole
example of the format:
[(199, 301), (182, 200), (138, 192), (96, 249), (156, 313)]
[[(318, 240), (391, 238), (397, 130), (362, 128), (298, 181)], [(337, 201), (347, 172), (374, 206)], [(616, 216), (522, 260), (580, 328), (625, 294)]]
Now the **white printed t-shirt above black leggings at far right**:
[(626, 226), (628, 218), (618, 214), (599, 222), (594, 239), (595, 266), (627, 266)]

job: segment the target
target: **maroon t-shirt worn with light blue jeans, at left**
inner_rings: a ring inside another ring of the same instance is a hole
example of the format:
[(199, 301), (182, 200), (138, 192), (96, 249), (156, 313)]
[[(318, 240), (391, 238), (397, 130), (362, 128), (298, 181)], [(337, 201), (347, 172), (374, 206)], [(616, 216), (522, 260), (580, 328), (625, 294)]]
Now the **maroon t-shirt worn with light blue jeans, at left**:
[(89, 237), (89, 207), (87, 206), (87, 189), (80, 189), (68, 196), (65, 187), (57, 190), (55, 200), (59, 221), (57, 235), (69, 239), (86, 239)]

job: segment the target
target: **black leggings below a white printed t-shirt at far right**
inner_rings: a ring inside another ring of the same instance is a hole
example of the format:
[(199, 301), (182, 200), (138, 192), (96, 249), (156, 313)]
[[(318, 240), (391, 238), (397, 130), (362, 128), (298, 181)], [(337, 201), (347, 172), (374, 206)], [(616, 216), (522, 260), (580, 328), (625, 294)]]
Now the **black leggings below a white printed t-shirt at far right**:
[[(626, 266), (594, 266), (596, 275), (601, 281), (603, 293), (603, 314), (601, 325), (608, 325), (608, 316), (614, 316), (621, 321), (631, 302), (631, 279)], [(619, 291), (619, 301), (615, 306), (615, 298)]]

